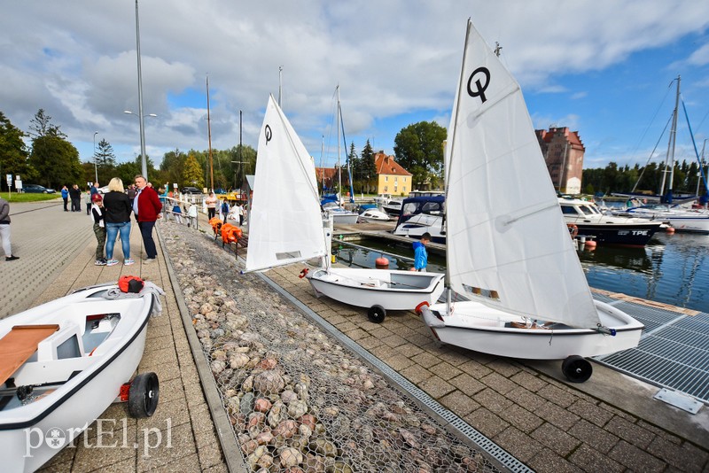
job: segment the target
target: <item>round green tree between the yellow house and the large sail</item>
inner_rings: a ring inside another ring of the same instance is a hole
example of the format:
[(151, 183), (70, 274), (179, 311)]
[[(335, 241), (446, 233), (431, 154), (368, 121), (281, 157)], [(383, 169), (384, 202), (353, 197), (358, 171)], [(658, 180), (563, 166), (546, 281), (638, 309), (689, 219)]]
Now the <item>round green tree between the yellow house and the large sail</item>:
[(396, 162), (413, 174), (413, 184), (437, 186), (443, 169), (446, 135), (446, 128), (435, 121), (419, 121), (396, 135), (393, 140)]

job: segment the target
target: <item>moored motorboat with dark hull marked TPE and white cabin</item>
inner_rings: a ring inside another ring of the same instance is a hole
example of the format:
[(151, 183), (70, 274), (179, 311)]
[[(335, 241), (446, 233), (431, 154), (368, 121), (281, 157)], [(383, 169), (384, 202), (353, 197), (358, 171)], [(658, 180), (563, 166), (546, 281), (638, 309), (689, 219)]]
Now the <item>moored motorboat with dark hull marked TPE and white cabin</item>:
[(578, 198), (558, 198), (567, 225), (579, 236), (597, 244), (641, 247), (662, 227), (662, 221), (647, 221), (601, 212), (596, 204)]

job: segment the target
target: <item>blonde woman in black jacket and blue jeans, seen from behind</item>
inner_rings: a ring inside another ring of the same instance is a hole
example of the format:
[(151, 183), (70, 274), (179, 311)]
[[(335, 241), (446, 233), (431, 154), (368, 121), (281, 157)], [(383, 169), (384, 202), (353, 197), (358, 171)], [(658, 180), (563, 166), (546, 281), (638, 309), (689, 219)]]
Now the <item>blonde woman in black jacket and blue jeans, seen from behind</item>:
[(104, 196), (105, 209), (105, 257), (106, 266), (118, 264), (118, 260), (113, 260), (113, 246), (116, 244), (116, 236), (121, 233), (121, 245), (123, 247), (123, 265), (129, 266), (135, 263), (130, 259), (130, 213), (133, 208), (130, 199), (123, 190), (123, 182), (120, 178), (114, 177), (108, 182), (109, 192)]

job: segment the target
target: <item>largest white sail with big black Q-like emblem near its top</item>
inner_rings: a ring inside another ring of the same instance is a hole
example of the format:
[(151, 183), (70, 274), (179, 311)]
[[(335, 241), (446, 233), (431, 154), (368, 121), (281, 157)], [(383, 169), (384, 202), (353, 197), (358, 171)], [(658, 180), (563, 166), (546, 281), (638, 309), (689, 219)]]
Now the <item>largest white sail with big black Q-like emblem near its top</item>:
[(452, 289), (513, 314), (595, 327), (522, 91), (470, 21), (446, 155)]

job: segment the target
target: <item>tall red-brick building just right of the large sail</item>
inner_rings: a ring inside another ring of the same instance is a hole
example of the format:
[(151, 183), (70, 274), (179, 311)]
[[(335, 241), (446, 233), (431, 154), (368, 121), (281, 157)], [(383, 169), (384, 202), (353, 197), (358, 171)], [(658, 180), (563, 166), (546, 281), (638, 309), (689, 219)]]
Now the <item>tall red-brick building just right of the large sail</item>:
[(580, 194), (586, 148), (579, 132), (563, 127), (538, 129), (536, 134), (554, 189), (563, 194)]

